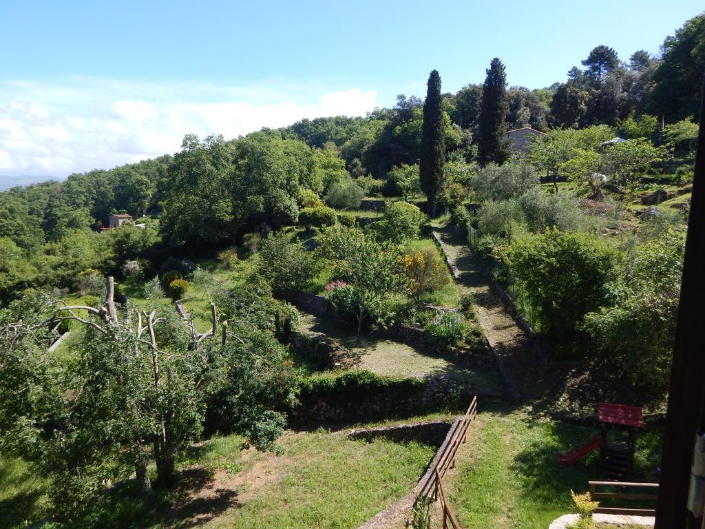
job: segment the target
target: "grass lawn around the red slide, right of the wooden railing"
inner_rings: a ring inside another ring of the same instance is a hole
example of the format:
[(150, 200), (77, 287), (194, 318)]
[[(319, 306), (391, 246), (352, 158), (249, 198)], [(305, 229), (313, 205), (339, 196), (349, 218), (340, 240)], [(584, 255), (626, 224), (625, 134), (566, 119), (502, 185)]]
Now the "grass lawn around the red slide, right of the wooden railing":
[[(587, 490), (599, 480), (599, 452), (575, 466), (561, 466), (559, 453), (596, 435), (589, 427), (512, 413), (479, 413), (446, 478), (448, 501), (467, 529), (546, 529), (558, 516), (575, 512), (570, 489)], [(637, 481), (656, 479), (658, 436), (641, 434), (635, 460)]]

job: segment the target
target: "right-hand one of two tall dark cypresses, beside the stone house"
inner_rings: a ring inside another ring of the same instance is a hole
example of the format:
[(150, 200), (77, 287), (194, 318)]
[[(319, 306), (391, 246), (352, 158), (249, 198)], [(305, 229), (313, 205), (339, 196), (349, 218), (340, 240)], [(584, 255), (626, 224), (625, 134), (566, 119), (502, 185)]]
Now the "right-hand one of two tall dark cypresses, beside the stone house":
[(477, 161), (503, 164), (509, 158), (509, 146), (504, 135), (507, 132), (505, 118), (509, 113), (507, 101), (507, 75), (502, 61), (495, 57), (486, 70), (482, 85), (482, 107), (480, 109), (477, 138)]

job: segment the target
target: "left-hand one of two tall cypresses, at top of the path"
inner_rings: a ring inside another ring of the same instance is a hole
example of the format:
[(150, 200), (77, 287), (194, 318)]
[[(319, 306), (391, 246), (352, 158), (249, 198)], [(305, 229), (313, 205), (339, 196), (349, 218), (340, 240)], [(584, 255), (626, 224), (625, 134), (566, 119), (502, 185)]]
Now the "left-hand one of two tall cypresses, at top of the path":
[(424, 124), (421, 133), (421, 159), (419, 177), (426, 195), (431, 217), (436, 216), (436, 200), (441, 190), (443, 164), (446, 163), (446, 131), (444, 129), (441, 101), (441, 76), (434, 70), (429, 75), (429, 85), (424, 103)]

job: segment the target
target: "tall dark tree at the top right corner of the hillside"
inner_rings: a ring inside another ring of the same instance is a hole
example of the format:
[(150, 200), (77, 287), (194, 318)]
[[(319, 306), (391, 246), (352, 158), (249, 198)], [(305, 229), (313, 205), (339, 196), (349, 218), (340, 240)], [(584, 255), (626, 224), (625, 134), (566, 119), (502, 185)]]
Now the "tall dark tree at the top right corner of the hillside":
[(705, 74), (705, 13), (695, 16), (666, 37), (661, 62), (651, 77), (649, 112), (678, 121), (700, 118), (700, 97)]

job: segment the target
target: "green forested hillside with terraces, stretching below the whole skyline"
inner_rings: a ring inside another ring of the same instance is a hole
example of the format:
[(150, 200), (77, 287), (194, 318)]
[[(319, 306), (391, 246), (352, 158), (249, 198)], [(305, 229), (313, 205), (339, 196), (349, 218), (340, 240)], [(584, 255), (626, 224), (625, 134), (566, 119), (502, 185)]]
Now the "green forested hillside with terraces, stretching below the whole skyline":
[[(242, 450), (249, 472), (259, 456), (247, 447), (286, 446), (298, 459), (274, 464), (293, 476), (310, 466), (308, 485), (326, 501), (338, 492), (369, 504), (309, 508), (320, 497), (283, 479), (284, 514), (271, 526), (328, 526), (319, 511), (338, 517), (330, 526), (362, 523), (410, 490), (428, 447), (361, 449), (317, 427), (513, 395), (487, 336), (501, 326), (483, 320), (477, 284), (448, 272), (455, 257), (504, 296), (496, 310), (527, 329), (513, 335), (519, 346), (531, 339), (555, 368), (550, 382), (536, 376), (539, 361), (522, 373), (527, 409), (586, 422), (595, 401), (617, 399), (662, 417), (705, 13), (667, 37), (661, 56), (624, 59), (596, 46), (566, 80), (537, 90), (508, 87), (500, 58), (482, 85), (456, 93), (434, 70), (424, 97), (399, 95), (364, 117), (186, 135), (173, 155), (0, 193), (0, 452), (7, 468), (37, 476), (11, 478), (29, 492), (0, 496), (0, 514), (24, 526), (195, 524), (180, 508), (185, 487), (205, 489), (214, 473), (235, 487), (231, 452)], [(515, 147), (507, 133), (522, 128), (532, 139)], [(109, 226), (114, 214), (131, 219)], [(398, 403), (408, 408), (387, 408)], [(336, 474), (341, 461), (365, 469), (350, 492), (357, 471)], [(384, 465), (394, 480), (377, 480)], [(319, 470), (328, 478), (311, 480)], [(192, 477), (200, 472), (209, 477)], [(233, 507), (239, 493), (221, 500)], [(271, 495), (248, 494), (227, 523), (274, 516)], [(565, 503), (536, 501), (542, 516)]]

